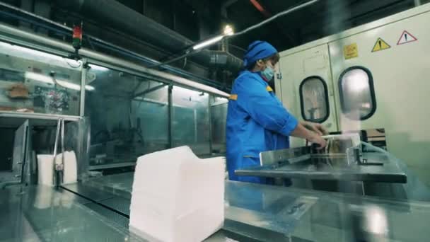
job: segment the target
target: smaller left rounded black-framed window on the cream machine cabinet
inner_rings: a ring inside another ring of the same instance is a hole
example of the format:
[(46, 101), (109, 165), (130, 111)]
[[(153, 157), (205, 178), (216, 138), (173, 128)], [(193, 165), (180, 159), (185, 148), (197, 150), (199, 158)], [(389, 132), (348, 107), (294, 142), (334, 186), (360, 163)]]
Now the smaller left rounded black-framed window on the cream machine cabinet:
[(301, 115), (304, 120), (324, 122), (330, 114), (327, 84), (320, 76), (310, 76), (300, 85)]

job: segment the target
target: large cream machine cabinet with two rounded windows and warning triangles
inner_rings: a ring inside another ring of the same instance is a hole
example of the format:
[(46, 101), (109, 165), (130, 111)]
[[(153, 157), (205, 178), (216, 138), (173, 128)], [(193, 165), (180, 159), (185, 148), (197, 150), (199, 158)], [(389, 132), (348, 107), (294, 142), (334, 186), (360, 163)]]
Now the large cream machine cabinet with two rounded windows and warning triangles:
[(280, 52), (277, 96), (296, 117), (330, 132), (373, 130), (368, 142), (430, 185), (429, 21), (424, 4)]

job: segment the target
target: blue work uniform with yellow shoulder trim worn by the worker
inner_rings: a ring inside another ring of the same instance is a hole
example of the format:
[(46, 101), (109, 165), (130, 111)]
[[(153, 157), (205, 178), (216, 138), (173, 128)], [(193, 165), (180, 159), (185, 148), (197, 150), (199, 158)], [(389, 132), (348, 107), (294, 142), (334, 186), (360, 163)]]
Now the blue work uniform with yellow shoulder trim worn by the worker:
[(230, 180), (265, 183), (265, 178), (234, 171), (260, 166), (260, 152), (289, 148), (298, 121), (274, 95), (259, 72), (243, 71), (233, 83), (228, 102), (226, 145)]

